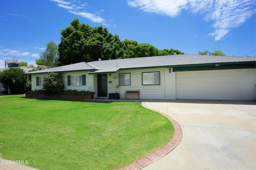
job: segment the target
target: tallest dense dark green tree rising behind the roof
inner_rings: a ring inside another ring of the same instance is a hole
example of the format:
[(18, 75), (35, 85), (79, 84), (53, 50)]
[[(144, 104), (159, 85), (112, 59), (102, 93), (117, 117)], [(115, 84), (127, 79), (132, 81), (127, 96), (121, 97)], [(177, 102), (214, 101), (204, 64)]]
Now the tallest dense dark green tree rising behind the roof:
[(61, 30), (59, 64), (96, 61), (99, 58), (117, 59), (123, 55), (118, 35), (108, 33), (106, 28), (91, 27), (74, 19), (70, 26)]

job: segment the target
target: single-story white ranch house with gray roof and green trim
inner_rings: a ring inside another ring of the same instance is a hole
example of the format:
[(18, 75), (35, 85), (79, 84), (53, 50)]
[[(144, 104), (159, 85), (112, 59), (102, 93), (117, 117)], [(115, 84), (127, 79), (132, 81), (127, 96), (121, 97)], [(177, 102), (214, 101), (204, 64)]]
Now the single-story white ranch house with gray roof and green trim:
[(141, 99), (255, 100), (256, 96), (256, 57), (171, 55), (82, 62), (24, 73), (32, 76), (32, 90), (42, 89), (46, 72), (60, 72), (64, 90), (89, 90), (95, 92), (94, 98), (108, 98), (116, 91), (124, 98), (126, 90), (140, 90)]

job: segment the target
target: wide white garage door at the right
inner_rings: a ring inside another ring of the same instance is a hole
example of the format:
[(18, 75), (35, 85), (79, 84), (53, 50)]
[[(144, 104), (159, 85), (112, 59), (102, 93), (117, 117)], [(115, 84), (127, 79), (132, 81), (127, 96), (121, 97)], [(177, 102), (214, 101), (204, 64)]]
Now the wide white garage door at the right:
[(176, 99), (255, 100), (255, 68), (176, 72)]

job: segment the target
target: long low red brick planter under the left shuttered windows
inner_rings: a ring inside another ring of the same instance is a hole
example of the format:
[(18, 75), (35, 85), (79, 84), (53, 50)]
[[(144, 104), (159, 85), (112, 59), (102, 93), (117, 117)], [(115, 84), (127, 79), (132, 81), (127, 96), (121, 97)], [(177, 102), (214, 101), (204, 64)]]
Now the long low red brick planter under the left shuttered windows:
[(88, 95), (70, 95), (70, 94), (26, 94), (26, 98), (42, 98), (42, 99), (64, 99), (64, 100), (91, 100), (93, 94)]

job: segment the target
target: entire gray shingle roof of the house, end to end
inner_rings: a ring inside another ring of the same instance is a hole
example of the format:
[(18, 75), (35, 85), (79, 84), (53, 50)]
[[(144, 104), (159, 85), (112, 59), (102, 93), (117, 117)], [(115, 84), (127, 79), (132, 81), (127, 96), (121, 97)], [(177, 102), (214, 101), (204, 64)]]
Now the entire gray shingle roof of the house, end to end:
[(256, 61), (256, 57), (228, 57), (228, 56), (209, 56), (209, 55), (168, 55), (154, 57), (139, 57), (131, 59), (116, 59), (104, 61), (92, 61), (89, 63), (76, 63), (66, 66), (49, 68), (30, 73), (41, 72), (62, 72), (74, 70), (92, 70), (92, 73), (116, 72), (119, 69), (144, 68), (144, 67), (171, 67), (192, 64), (210, 64), (210, 63), (238, 63)]

